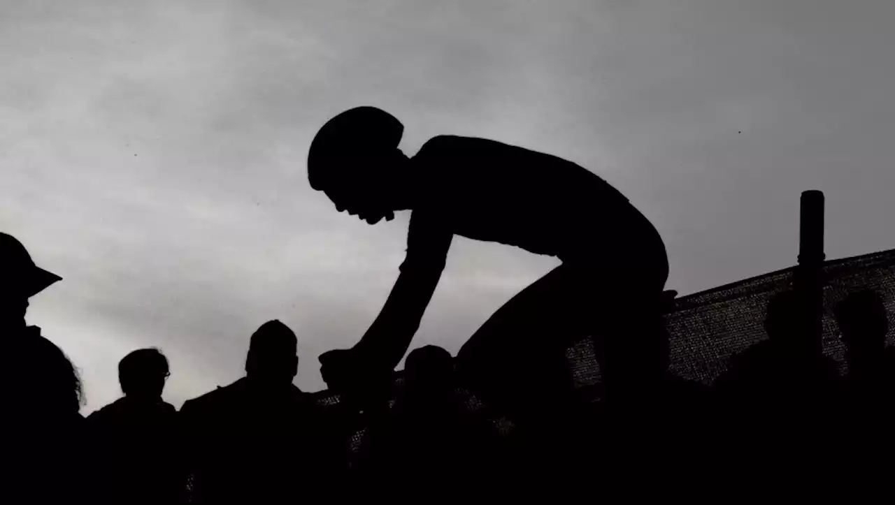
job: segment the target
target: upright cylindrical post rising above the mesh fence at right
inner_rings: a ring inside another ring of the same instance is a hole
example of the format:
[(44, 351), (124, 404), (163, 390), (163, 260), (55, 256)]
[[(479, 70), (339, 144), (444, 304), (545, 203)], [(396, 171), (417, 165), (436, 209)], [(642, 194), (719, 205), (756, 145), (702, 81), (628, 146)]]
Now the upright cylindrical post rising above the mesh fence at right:
[(800, 300), (802, 343), (810, 352), (823, 352), (823, 192), (802, 192), (798, 266), (795, 289)]

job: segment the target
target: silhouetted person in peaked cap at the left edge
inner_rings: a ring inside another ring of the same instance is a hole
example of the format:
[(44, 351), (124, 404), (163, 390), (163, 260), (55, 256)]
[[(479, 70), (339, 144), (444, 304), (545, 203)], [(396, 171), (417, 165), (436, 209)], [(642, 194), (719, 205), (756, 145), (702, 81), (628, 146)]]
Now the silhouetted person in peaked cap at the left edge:
[(19, 240), (0, 233), (0, 345), (4, 351), (4, 495), (35, 503), (82, 487), (81, 380), (63, 351), (25, 323), (29, 299), (61, 279), (38, 268)]

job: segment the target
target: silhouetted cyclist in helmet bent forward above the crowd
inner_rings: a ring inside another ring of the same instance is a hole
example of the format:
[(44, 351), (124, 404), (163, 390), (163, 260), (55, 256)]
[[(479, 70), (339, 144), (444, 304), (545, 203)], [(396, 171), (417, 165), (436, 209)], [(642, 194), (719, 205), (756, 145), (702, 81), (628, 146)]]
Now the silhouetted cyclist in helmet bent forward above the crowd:
[(562, 261), (500, 307), (458, 353), (458, 371), (480, 386), (533, 376), (542, 357), (591, 335), (598, 316), (603, 328), (625, 326), (609, 330), (614, 336), (638, 320), (628, 309), (659, 307), (669, 273), (661, 237), (601, 177), (557, 156), (454, 135), (406, 156), (398, 148), (403, 131), (393, 115), (361, 106), (330, 119), (311, 142), (311, 188), (339, 212), (374, 224), (411, 211), (405, 260), (379, 316), (354, 348), (320, 357), (328, 383), (398, 364), (454, 236)]

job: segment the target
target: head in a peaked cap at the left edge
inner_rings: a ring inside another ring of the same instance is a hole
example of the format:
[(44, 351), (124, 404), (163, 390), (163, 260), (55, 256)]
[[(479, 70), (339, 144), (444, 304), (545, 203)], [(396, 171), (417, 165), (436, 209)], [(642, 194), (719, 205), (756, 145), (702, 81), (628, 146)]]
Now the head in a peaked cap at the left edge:
[(28, 299), (61, 279), (35, 265), (19, 240), (0, 233), (0, 327), (23, 326)]

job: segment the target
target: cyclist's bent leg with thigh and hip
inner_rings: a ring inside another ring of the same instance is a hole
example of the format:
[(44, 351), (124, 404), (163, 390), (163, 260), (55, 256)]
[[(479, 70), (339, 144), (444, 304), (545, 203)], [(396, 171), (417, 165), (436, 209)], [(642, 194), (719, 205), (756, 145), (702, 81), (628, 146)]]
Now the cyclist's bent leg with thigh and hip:
[(654, 316), (661, 302), (668, 257), (659, 233), (636, 211), (613, 228), (618, 232), (602, 234), (618, 238), (606, 240), (609, 252), (583, 249), (569, 257), (473, 333), (457, 355), (458, 371), (473, 388), (507, 400), (560, 391), (571, 385), (565, 350), (587, 336), (635, 349), (635, 335), (649, 321), (644, 315)]

